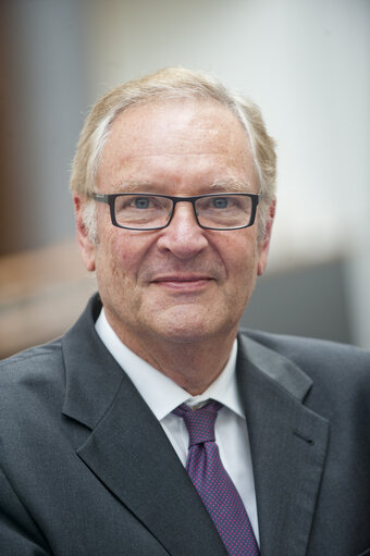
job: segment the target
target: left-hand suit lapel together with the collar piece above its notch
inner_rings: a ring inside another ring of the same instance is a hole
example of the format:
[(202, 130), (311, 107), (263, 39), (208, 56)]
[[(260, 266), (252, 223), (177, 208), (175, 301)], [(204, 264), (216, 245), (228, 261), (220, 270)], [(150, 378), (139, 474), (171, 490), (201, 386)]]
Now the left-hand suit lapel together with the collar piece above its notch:
[(225, 555), (165, 433), (101, 344), (90, 311), (63, 338), (63, 413), (90, 430), (79, 458), (171, 555)]

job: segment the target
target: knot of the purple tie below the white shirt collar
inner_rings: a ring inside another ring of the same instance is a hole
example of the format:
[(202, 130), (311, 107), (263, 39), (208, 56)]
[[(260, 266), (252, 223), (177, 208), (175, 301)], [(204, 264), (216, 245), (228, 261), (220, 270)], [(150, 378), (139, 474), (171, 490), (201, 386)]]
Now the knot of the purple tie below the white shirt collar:
[(184, 419), (189, 433), (189, 447), (202, 442), (214, 442), (214, 422), (222, 404), (209, 401), (200, 409), (193, 410), (186, 404), (176, 407), (172, 412)]

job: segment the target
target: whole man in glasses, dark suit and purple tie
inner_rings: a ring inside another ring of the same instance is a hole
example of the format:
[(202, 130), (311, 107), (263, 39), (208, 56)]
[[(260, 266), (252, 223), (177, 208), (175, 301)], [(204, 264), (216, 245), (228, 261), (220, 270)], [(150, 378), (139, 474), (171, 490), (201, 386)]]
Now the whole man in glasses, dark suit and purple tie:
[(238, 333), (274, 182), (258, 109), (202, 74), (92, 109), (71, 186), (99, 295), (1, 366), (1, 554), (370, 554), (370, 354)]

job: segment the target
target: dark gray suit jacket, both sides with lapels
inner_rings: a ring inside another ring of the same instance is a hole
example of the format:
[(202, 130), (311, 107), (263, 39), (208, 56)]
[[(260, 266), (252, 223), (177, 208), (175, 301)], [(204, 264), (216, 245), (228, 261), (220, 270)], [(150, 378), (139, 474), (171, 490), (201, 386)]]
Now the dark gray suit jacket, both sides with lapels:
[[(225, 555), (99, 310), (0, 366), (0, 554)], [(262, 556), (370, 554), (370, 354), (249, 331), (237, 375)]]

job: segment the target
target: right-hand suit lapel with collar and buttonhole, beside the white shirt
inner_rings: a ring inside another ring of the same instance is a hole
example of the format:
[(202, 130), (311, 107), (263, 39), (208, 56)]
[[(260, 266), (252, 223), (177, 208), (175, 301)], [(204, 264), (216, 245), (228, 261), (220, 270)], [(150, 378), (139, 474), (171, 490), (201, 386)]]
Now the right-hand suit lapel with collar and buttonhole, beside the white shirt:
[(263, 556), (304, 556), (326, 453), (329, 424), (303, 405), (310, 379), (240, 337), (238, 381), (254, 465)]

